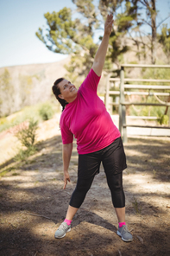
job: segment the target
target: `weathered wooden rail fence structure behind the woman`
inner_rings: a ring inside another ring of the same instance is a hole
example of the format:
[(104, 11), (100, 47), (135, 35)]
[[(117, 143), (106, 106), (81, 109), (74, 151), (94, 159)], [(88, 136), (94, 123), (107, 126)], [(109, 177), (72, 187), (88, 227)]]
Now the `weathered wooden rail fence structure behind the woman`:
[[(169, 115), (169, 126), (148, 126), (148, 125), (127, 125), (126, 124), (126, 106), (167, 106), (170, 107), (170, 102), (163, 102), (158, 96), (168, 96), (170, 99), (170, 86), (158, 86), (158, 85), (138, 85), (138, 84), (125, 84), (126, 82), (154, 82), (154, 83), (168, 83), (170, 84), (170, 80), (154, 80), (154, 79), (128, 79), (124, 78), (124, 68), (128, 67), (145, 67), (145, 68), (169, 68), (169, 65), (131, 65), (131, 64), (124, 64), (121, 66), (120, 72), (120, 79), (110, 78), (108, 76), (107, 86), (106, 86), (106, 94), (105, 94), (105, 106), (107, 110), (109, 110), (110, 106), (119, 106), (119, 131), (123, 137), (123, 142), (127, 142), (127, 127), (142, 127), (142, 128), (157, 128), (157, 129), (170, 129), (170, 115)], [(110, 82), (120, 82), (119, 91), (110, 91)], [(139, 91), (127, 91), (128, 89), (142, 89), (142, 92)], [(151, 92), (155, 91), (155, 92)], [(159, 92), (162, 90), (166, 90), (167, 92)], [(146, 92), (147, 91), (147, 92)], [(119, 103), (111, 102), (110, 103), (110, 95), (117, 95), (119, 96)], [(125, 95), (148, 95), (154, 96), (157, 99), (157, 103), (143, 103), (143, 102), (131, 102), (125, 101)], [(168, 100), (169, 101), (169, 100)], [(143, 117), (142, 117), (143, 118)], [(147, 117), (146, 117), (147, 118)], [(150, 119), (152, 119), (150, 117)]]

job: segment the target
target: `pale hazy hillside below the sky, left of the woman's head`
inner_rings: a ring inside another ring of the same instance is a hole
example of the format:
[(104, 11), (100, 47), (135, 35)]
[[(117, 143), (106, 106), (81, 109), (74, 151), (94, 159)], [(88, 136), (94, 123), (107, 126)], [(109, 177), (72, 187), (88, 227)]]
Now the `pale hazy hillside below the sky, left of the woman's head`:
[[(0, 68), (1, 116), (51, 98), (54, 80), (66, 74), (70, 60)], [(8, 103), (8, 104), (7, 104)]]

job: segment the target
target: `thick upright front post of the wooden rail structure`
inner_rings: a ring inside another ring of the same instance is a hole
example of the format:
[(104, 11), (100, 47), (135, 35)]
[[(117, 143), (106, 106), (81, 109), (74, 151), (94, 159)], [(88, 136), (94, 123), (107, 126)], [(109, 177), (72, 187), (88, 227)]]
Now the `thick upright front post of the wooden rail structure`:
[(127, 142), (127, 128), (126, 126), (126, 106), (123, 105), (124, 102), (124, 67), (121, 67), (120, 73), (120, 103), (119, 103), (119, 131), (123, 137), (123, 142)]

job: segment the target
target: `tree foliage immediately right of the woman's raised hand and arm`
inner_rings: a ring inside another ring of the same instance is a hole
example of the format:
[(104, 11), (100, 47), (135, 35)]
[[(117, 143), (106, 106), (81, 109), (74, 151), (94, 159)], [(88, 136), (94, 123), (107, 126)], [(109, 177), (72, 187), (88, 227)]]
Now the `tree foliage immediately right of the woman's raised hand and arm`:
[(108, 57), (120, 68), (121, 56), (130, 50), (126, 42), (126, 35), (134, 27), (137, 19), (135, 3), (129, 0), (100, 0), (99, 10), (103, 17), (107, 15), (108, 10), (115, 16)]

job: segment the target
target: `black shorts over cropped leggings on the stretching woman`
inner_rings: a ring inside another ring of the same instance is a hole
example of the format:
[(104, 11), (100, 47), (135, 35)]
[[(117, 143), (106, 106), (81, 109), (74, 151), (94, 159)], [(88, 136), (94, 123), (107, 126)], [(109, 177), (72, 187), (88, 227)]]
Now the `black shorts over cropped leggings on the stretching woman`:
[(70, 206), (79, 208), (84, 202), (94, 176), (99, 173), (101, 162), (104, 166), (113, 206), (115, 208), (125, 207), (123, 170), (127, 168), (127, 165), (122, 138), (116, 138), (112, 144), (102, 150), (79, 155), (78, 181), (72, 193)]

